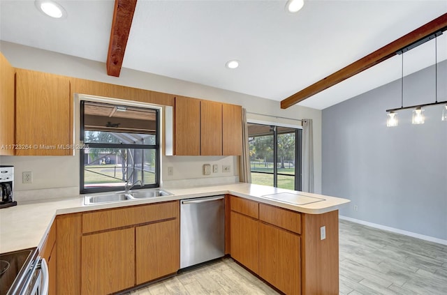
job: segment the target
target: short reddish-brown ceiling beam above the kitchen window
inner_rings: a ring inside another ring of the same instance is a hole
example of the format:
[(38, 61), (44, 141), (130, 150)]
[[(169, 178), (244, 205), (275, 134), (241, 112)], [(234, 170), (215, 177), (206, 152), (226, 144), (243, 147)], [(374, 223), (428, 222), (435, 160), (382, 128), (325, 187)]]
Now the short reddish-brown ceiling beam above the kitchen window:
[(137, 0), (115, 0), (107, 55), (107, 75), (119, 77)]

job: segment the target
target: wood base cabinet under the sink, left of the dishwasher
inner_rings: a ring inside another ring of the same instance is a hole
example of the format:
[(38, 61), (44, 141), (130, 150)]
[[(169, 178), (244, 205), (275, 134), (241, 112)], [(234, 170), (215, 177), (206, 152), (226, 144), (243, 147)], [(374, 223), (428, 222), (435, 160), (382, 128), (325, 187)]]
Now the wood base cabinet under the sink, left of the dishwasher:
[(56, 294), (112, 294), (180, 267), (179, 201), (59, 215), (56, 221)]

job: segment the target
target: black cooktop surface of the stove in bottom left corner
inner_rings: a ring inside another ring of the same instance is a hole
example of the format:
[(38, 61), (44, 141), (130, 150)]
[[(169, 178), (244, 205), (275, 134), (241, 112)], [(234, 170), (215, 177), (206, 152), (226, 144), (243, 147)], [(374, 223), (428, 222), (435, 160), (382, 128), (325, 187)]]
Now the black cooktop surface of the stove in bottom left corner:
[(0, 295), (8, 294), (11, 286), (27, 272), (37, 248), (0, 254)]

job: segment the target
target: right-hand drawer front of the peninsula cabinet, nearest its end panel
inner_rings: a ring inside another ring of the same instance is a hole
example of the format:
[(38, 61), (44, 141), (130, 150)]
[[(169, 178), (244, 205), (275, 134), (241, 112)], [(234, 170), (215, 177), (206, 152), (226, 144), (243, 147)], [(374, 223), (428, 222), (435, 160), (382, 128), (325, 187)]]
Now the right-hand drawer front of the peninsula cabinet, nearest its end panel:
[(301, 234), (301, 214), (298, 212), (259, 204), (259, 220)]

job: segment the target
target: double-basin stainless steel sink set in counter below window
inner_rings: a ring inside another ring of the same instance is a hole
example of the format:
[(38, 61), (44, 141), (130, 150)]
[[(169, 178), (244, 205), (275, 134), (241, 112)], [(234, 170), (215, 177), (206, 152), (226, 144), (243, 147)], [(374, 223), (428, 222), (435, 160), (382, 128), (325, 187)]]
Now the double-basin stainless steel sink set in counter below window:
[(103, 204), (112, 202), (122, 202), (131, 199), (148, 199), (152, 197), (164, 197), (173, 195), (166, 190), (157, 188), (156, 190), (140, 190), (135, 192), (118, 192), (110, 193), (110, 195), (86, 195), (84, 199), (85, 205)]

